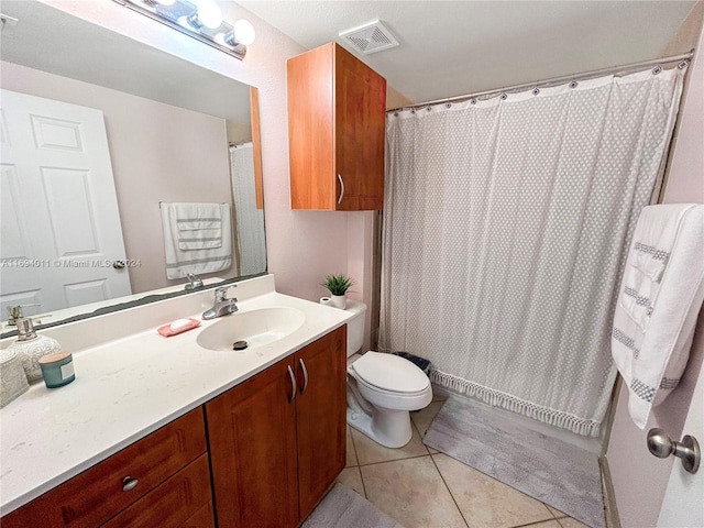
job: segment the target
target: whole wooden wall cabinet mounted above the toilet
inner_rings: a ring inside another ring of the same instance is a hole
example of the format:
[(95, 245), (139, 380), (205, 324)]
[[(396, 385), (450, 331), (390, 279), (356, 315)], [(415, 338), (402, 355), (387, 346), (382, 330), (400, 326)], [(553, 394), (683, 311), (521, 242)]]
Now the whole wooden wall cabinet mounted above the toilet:
[(336, 43), (287, 63), (293, 209), (382, 209), (386, 79)]

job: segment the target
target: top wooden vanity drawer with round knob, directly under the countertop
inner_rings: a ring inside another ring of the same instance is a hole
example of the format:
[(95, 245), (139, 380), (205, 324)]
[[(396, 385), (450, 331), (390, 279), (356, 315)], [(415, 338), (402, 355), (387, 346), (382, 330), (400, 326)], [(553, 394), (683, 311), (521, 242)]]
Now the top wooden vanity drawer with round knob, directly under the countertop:
[[(2, 518), (2, 528), (96, 527), (206, 452), (199, 407)], [(125, 477), (139, 482), (123, 491)]]

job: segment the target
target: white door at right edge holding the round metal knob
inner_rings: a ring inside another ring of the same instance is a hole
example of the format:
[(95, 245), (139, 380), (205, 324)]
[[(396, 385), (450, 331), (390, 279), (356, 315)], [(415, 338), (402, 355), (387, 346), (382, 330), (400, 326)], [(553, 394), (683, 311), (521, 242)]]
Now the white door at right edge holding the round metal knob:
[[(696, 438), (700, 448), (704, 447), (704, 369), (700, 372), (700, 378), (694, 387), (692, 404), (682, 431), (682, 436), (684, 435)], [(700, 470), (692, 474), (684, 471), (679, 460), (674, 461), (658, 526), (662, 528), (704, 527), (704, 463), (700, 463)]]

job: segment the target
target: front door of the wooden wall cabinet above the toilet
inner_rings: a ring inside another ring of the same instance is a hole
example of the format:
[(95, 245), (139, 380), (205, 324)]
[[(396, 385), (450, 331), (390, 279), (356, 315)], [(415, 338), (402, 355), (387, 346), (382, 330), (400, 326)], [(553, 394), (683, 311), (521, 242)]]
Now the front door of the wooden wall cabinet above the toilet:
[(338, 45), (334, 76), (336, 209), (382, 209), (386, 79)]

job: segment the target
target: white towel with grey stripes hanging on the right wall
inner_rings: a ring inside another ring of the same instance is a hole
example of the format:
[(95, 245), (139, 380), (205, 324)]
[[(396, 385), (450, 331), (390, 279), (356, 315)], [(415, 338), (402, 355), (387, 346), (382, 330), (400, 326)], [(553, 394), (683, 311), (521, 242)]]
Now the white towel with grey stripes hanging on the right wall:
[(629, 389), (628, 411), (646, 427), (674, 389), (704, 299), (704, 205), (644, 208), (618, 295), (612, 355)]

